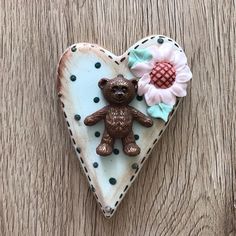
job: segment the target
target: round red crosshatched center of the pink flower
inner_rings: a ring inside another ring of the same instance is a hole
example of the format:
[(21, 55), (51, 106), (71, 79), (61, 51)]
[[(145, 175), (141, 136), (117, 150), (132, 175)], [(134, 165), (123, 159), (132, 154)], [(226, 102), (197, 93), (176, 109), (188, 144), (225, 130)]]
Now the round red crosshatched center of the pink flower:
[(174, 82), (176, 72), (168, 62), (157, 62), (150, 72), (151, 83), (158, 88), (169, 88)]

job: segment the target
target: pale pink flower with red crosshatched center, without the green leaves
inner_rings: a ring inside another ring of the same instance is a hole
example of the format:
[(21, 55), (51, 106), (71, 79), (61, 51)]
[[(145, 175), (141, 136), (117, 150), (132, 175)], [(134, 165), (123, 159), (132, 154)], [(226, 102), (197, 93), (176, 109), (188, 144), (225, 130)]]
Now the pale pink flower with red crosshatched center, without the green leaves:
[(144, 95), (149, 106), (165, 103), (174, 105), (176, 97), (184, 97), (192, 73), (184, 52), (173, 43), (146, 48), (152, 55), (148, 61), (137, 62), (130, 70), (139, 77), (138, 94)]

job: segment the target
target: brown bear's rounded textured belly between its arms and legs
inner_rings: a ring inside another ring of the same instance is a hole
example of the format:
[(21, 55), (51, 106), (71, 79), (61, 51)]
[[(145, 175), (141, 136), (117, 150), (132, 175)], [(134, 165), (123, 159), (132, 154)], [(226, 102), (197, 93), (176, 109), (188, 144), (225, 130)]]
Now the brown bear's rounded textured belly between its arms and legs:
[(123, 138), (132, 130), (132, 115), (127, 108), (111, 108), (105, 126), (112, 137)]

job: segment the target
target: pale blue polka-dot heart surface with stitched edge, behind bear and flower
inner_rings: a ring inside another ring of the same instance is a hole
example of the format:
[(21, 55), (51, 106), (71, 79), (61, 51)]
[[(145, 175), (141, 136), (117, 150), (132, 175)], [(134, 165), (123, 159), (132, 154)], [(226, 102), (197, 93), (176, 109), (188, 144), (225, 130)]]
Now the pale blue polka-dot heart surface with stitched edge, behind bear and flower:
[[(168, 122), (153, 119), (153, 126), (146, 128), (134, 121), (133, 132), (141, 148), (140, 154), (135, 157), (124, 154), (120, 140), (115, 141), (112, 155), (107, 157), (97, 155), (96, 147), (101, 141), (104, 123), (100, 121), (94, 126), (86, 126), (84, 119), (107, 105), (98, 87), (98, 81), (104, 77), (114, 78), (118, 74), (124, 75), (127, 79), (134, 78), (128, 67), (129, 52), (152, 45), (159, 47), (161, 46), (158, 43), (160, 38), (164, 40), (162, 44), (172, 43), (176, 50), (182, 51), (174, 40), (162, 35), (153, 35), (138, 41), (121, 56), (116, 56), (95, 44), (79, 43), (72, 45), (64, 52), (58, 65), (58, 96), (72, 143), (91, 190), (106, 217), (114, 214), (144, 161), (168, 125), (179, 99), (174, 105)], [(144, 98), (137, 96), (130, 105), (147, 115)]]

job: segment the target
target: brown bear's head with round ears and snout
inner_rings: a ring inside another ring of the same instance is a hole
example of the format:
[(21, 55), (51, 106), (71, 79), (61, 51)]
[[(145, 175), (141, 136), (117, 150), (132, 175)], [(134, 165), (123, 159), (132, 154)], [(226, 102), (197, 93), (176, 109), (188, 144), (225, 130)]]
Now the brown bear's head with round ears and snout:
[(118, 75), (113, 79), (103, 78), (98, 82), (103, 96), (110, 104), (128, 105), (135, 97), (138, 81)]

